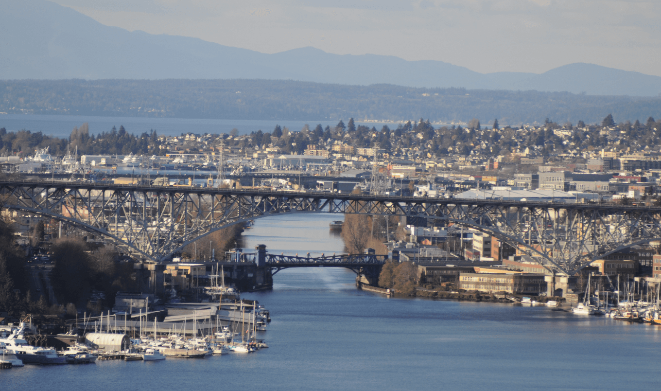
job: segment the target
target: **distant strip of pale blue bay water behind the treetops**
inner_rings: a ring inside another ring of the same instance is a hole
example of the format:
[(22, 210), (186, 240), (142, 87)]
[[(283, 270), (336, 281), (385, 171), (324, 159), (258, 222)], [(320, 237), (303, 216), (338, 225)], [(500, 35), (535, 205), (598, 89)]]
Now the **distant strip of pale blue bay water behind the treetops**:
[[(136, 134), (136, 136), (143, 132), (149, 133), (151, 129), (155, 129), (158, 134), (165, 136), (179, 136), (182, 133), (188, 132), (197, 134), (229, 134), (233, 128), (239, 130), (239, 134), (250, 134), (257, 130), (262, 130), (264, 133), (272, 132), (276, 124), (282, 127), (286, 126), (291, 130), (301, 130), (305, 124), (308, 124), (313, 129), (317, 124), (321, 124), (324, 127), (332, 127), (338, 123), (338, 121), (328, 120), (209, 120), (122, 116), (0, 114), (0, 128), (7, 128), (7, 132), (16, 132), (17, 130), (25, 129), (30, 130), (30, 132), (42, 132), (43, 134), (60, 138), (68, 138), (71, 135), (73, 127), (79, 127), (84, 122), (89, 123), (90, 134), (110, 132), (112, 126), (119, 129), (120, 125), (124, 125), (127, 132)], [(383, 124), (377, 124), (375, 122), (356, 122), (356, 126), (358, 124), (365, 124), (370, 128), (371, 126), (376, 126), (377, 129), (381, 129), (381, 126), (383, 126)], [(393, 124), (389, 124), (389, 126), (393, 128)], [(396, 125), (395, 128), (397, 128)]]

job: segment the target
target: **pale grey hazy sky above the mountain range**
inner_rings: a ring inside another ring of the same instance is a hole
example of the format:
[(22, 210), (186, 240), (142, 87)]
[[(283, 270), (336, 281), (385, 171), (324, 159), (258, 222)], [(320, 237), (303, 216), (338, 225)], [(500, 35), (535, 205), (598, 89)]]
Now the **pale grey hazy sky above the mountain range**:
[(661, 76), (661, 0), (55, 0), (109, 26), (276, 53), (440, 60), (483, 73), (588, 62)]

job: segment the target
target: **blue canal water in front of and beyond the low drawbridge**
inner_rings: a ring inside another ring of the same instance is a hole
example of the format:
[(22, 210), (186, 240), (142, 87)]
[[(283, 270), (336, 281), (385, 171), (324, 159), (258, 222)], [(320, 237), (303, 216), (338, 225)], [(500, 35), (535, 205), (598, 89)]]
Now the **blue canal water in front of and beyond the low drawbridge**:
[[(338, 216), (256, 220), (246, 251), (332, 253)], [(661, 329), (546, 307), (385, 298), (344, 269), (290, 269), (256, 353), (3, 370), (3, 390), (655, 390)]]

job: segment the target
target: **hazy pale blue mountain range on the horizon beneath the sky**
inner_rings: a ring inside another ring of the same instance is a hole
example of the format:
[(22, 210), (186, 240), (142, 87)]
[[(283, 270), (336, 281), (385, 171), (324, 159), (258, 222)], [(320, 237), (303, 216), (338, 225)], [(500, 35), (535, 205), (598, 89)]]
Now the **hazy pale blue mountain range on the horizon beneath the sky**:
[(315, 48), (263, 54), (198, 38), (104, 26), (45, 0), (0, 0), (0, 79), (292, 79), (345, 85), (568, 91), (656, 97), (661, 77), (594, 64), (535, 73), (478, 73), (438, 61), (337, 55)]

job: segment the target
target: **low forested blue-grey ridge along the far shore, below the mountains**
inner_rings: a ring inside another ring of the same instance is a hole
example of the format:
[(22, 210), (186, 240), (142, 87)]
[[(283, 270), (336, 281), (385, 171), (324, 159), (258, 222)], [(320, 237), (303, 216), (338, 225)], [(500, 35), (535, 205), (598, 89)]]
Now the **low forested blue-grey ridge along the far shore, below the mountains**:
[[(292, 80), (0, 81), (0, 112), (175, 118), (464, 121), (491, 124), (661, 118), (661, 99), (538, 91), (424, 89)], [(2, 126), (0, 115), (0, 127)]]

